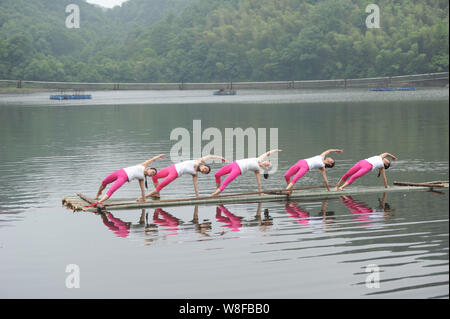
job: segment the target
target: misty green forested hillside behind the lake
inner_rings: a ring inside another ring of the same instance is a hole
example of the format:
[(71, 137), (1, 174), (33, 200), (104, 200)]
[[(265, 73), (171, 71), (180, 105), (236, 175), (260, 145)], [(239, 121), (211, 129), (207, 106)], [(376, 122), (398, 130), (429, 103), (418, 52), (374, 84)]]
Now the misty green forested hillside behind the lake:
[[(80, 6), (67, 29), (67, 4)], [(0, 79), (208, 82), (448, 71), (447, 0), (1, 0)]]

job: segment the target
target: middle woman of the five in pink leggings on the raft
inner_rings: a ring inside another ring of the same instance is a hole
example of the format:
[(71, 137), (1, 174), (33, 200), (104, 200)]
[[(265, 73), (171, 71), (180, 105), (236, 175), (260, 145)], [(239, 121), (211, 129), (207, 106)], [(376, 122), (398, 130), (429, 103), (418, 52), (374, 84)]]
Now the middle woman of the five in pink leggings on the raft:
[[(223, 190), (239, 175), (244, 175), (247, 171), (253, 171), (256, 175), (256, 182), (258, 183), (258, 192), (261, 192), (261, 176), (259, 169), (268, 170), (272, 164), (269, 161), (264, 161), (264, 159), (272, 153), (281, 152), (281, 150), (271, 150), (259, 157), (244, 158), (236, 160), (221, 169), (219, 169), (216, 174), (216, 186), (217, 190), (211, 194), (211, 196), (216, 196), (223, 192)], [(223, 175), (229, 174), (227, 178), (221, 184), (221, 177)], [(267, 178), (268, 174), (264, 174), (264, 178)]]

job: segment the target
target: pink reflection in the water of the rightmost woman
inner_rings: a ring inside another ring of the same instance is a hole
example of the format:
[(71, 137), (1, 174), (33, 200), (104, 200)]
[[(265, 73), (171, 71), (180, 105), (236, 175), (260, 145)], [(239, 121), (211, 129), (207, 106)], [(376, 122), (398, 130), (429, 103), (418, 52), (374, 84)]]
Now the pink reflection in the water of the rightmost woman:
[(340, 196), (342, 203), (357, 216), (358, 219), (367, 221), (376, 218), (387, 218), (394, 211), (390, 205), (386, 203), (386, 193), (383, 193), (382, 199), (378, 199), (378, 207), (371, 208), (364, 202), (356, 201), (351, 196)]

